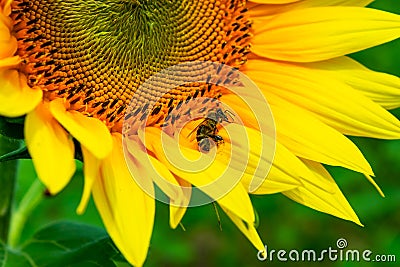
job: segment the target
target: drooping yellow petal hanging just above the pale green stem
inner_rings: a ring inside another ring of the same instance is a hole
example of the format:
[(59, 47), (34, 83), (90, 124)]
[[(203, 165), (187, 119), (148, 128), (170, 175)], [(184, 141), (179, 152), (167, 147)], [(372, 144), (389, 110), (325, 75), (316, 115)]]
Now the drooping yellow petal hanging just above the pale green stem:
[(57, 194), (75, 172), (74, 144), (45, 104), (26, 116), (25, 140), (40, 180)]

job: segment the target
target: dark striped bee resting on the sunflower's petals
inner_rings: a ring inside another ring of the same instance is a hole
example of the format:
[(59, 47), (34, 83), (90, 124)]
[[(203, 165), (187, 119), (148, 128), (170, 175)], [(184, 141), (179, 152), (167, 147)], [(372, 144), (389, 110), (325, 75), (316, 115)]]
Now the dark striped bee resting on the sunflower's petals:
[[(215, 142), (217, 147), (224, 144), (224, 139), (218, 135), (218, 124), (224, 121), (231, 122), (227, 116), (228, 110), (223, 111), (217, 109), (216, 111), (210, 112), (205, 118), (189, 135), (196, 132), (196, 141), (201, 152), (208, 153), (212, 147), (211, 140)], [(230, 115), (231, 116), (231, 115)], [(231, 116), (232, 118), (232, 116)], [(211, 140), (210, 140), (211, 139)]]

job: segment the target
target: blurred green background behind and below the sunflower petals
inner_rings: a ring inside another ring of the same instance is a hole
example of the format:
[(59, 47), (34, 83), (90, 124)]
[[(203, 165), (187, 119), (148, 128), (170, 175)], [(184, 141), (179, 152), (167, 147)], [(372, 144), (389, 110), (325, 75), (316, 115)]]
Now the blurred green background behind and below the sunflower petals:
[[(400, 13), (400, 1), (381, 0), (371, 6)], [(400, 76), (400, 41), (354, 55), (371, 69)], [(393, 113), (400, 118), (400, 109)], [(400, 266), (400, 141), (352, 138), (371, 163), (376, 181), (385, 198), (360, 174), (329, 168), (338, 185), (357, 212), (364, 227), (303, 207), (282, 195), (253, 196), (259, 217), (259, 233), (270, 249), (336, 248), (336, 240), (345, 238), (349, 249), (369, 249), (374, 254), (395, 254), (396, 263), (330, 262), (324, 266)], [(16, 198), (19, 201), (35, 179), (29, 160), (20, 164)], [(90, 203), (86, 213), (75, 209), (82, 192), (81, 165), (73, 181), (59, 195), (46, 197), (29, 218), (22, 240), (50, 222), (73, 220), (102, 226)], [(168, 207), (157, 203), (156, 223), (146, 266), (320, 266), (321, 263), (260, 262), (257, 251), (239, 230), (220, 212), (222, 230), (212, 205), (192, 208), (183, 219), (186, 230), (172, 230)]]

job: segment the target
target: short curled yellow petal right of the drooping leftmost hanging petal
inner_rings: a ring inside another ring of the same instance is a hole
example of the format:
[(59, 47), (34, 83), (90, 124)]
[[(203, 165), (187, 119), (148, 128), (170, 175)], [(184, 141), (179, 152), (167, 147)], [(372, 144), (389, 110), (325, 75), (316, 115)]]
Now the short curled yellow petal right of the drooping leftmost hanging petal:
[(95, 157), (102, 159), (112, 149), (112, 138), (106, 125), (96, 118), (89, 118), (76, 111), (67, 111), (62, 99), (50, 102), (50, 111)]

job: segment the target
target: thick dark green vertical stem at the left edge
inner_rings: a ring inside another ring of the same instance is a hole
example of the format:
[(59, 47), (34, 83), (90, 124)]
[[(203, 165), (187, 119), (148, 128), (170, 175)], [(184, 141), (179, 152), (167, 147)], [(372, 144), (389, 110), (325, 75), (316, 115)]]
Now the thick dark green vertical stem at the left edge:
[[(0, 135), (0, 155), (18, 149), (20, 142)], [(14, 200), (18, 161), (0, 163), (0, 241), (7, 243), (11, 209)]]

